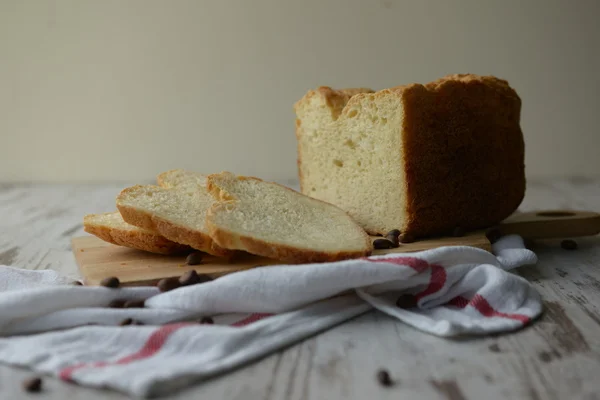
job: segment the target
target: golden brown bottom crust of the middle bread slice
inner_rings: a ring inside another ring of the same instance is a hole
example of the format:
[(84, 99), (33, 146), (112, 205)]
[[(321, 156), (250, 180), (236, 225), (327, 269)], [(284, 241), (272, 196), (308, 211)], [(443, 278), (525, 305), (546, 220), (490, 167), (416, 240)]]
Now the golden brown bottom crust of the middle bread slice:
[(202, 232), (174, 224), (134, 207), (117, 204), (117, 209), (121, 213), (123, 220), (128, 224), (158, 232), (160, 235), (174, 242), (187, 244), (196, 250), (204, 251), (218, 257), (231, 258), (237, 254), (235, 251), (219, 247), (210, 236)]

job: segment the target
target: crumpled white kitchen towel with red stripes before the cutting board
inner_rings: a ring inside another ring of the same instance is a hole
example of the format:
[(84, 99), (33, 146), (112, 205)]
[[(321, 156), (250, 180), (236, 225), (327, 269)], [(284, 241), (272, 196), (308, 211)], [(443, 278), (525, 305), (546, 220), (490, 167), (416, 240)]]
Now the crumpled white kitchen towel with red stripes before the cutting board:
[[(442, 337), (512, 331), (540, 315), (542, 302), (509, 270), (537, 257), (516, 235), (501, 238), (493, 252), (448, 246), (268, 266), (165, 293), (75, 286), (52, 271), (3, 266), (0, 362), (155, 397), (373, 309)], [(106, 307), (142, 298), (145, 308)], [(214, 324), (197, 322), (205, 317)], [(126, 318), (144, 325), (119, 326)]]

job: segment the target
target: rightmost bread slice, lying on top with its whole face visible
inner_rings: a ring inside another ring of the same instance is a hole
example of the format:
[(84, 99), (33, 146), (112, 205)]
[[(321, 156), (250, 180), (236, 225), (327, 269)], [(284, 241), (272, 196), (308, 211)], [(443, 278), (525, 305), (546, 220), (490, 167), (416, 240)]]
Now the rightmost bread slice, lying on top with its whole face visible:
[(276, 183), (229, 172), (209, 175), (212, 205), (206, 225), (228, 249), (289, 263), (336, 261), (366, 256), (366, 232), (339, 208)]

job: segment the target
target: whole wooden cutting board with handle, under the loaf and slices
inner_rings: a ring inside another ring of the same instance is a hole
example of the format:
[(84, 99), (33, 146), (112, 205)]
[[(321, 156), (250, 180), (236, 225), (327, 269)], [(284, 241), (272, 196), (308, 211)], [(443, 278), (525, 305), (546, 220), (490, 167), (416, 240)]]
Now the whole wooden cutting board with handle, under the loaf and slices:
[[(539, 211), (511, 216), (500, 226), (503, 234), (517, 233), (526, 239), (547, 239), (591, 236), (600, 233), (600, 214), (583, 211)], [(185, 256), (163, 256), (106, 243), (95, 236), (72, 239), (72, 249), (84, 284), (98, 285), (109, 276), (116, 276), (125, 286), (152, 285), (163, 278), (177, 277), (191, 269), (213, 277), (278, 261), (245, 256), (231, 262), (206, 255), (201, 265), (188, 266)], [(442, 237), (401, 244), (399, 248), (374, 250), (373, 255), (410, 253), (441, 246), (471, 246), (491, 250), (485, 231), (471, 232), (462, 237)], [(299, 266), (301, 268), (301, 266)]]

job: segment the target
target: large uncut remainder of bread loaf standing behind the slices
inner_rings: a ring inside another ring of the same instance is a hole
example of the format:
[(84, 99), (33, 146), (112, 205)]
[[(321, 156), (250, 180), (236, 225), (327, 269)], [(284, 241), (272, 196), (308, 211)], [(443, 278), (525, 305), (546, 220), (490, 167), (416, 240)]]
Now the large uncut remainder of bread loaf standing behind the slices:
[(342, 208), (371, 234), (484, 228), (523, 199), (521, 100), (505, 80), (319, 87), (294, 109), (302, 193)]

